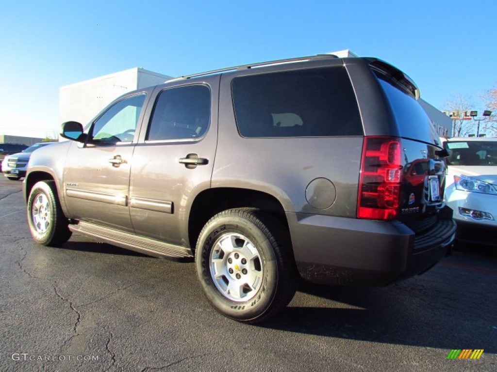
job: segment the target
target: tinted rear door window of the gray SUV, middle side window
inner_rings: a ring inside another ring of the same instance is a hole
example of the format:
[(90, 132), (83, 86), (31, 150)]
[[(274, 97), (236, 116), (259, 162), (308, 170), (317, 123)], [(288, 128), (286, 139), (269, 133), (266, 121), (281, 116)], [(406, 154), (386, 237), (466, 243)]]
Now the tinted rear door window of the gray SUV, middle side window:
[(157, 99), (147, 140), (195, 139), (209, 126), (211, 93), (205, 85), (163, 90)]

